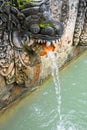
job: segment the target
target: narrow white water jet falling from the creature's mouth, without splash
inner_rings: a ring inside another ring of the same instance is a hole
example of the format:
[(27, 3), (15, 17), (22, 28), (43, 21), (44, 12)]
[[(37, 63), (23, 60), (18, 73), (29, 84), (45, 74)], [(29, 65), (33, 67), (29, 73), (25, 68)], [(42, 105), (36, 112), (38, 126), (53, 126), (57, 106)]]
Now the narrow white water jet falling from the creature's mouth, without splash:
[[(48, 52), (48, 58), (51, 61), (51, 69), (52, 69), (52, 77), (55, 84), (55, 92), (56, 92), (56, 99), (57, 99), (57, 111), (59, 115), (59, 122), (62, 121), (62, 115), (61, 115), (61, 87), (59, 82), (59, 68), (57, 66), (57, 60), (55, 57), (54, 52), (49, 51)], [(61, 124), (58, 124), (57, 130), (60, 130)]]

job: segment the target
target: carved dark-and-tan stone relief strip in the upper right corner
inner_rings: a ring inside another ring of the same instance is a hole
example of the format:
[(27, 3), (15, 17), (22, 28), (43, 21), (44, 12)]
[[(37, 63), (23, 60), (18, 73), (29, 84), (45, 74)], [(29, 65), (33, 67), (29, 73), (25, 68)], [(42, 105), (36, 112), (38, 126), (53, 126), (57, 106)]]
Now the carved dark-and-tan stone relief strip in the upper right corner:
[(87, 1), (79, 0), (73, 45), (87, 45)]

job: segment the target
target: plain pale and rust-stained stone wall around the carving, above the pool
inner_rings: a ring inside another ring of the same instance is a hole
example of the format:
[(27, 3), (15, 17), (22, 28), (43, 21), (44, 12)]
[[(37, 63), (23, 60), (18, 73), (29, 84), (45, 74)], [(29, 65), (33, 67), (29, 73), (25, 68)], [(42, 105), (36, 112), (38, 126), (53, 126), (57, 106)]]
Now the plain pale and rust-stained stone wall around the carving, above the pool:
[[(52, 19), (64, 24), (64, 34), (56, 41), (55, 56), (58, 66), (63, 66), (79, 52), (79, 47), (73, 46), (73, 34), (78, 13), (79, 0), (51, 0)], [(84, 25), (85, 28), (86, 25)], [(83, 34), (84, 32), (82, 32)], [(41, 63), (24, 70), (28, 73), (26, 87), (6, 86), (5, 79), (0, 76), (0, 109), (17, 99), (25, 91), (31, 91), (38, 83), (51, 74), (51, 63), (47, 55), (41, 56)]]

